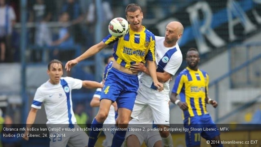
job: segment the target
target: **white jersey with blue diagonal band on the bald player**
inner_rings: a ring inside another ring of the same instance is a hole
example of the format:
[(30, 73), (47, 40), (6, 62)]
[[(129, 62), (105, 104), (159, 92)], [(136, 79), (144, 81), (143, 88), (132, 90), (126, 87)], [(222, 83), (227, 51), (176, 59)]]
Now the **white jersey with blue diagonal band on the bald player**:
[[(157, 72), (170, 73), (174, 75), (182, 63), (182, 53), (178, 43), (170, 48), (163, 45), (165, 37), (155, 36), (155, 59), (157, 64)], [(139, 81), (147, 87), (157, 89), (154, 86), (152, 78), (146, 73), (141, 73)], [(169, 91), (169, 81), (163, 83), (164, 91)]]

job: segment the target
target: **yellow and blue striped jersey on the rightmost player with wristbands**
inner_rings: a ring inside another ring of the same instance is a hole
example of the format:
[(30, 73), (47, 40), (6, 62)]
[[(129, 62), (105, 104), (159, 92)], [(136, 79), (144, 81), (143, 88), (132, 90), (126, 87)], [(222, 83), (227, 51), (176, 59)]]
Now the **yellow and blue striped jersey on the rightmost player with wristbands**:
[(187, 67), (175, 79), (173, 93), (179, 94), (182, 102), (186, 102), (188, 110), (183, 111), (183, 118), (207, 114), (205, 98), (208, 94), (208, 73)]

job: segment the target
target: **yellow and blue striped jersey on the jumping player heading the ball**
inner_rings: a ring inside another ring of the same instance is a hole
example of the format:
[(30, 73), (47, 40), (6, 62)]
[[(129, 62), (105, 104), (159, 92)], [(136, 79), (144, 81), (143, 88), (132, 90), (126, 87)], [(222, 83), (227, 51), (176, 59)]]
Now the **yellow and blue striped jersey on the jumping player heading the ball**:
[(155, 61), (155, 36), (144, 26), (142, 27), (141, 32), (130, 29), (128, 34), (123, 37), (116, 38), (109, 35), (103, 39), (107, 45), (115, 43), (113, 57), (125, 68), (130, 68), (130, 65), (134, 63), (145, 63), (145, 60)]

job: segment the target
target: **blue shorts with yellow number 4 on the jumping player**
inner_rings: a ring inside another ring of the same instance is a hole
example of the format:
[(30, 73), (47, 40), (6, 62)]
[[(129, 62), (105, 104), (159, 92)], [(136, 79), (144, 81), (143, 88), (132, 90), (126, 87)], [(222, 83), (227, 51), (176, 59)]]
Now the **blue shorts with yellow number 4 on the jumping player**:
[(137, 75), (123, 73), (115, 68), (108, 71), (100, 99), (116, 101), (118, 108), (132, 111), (139, 88)]

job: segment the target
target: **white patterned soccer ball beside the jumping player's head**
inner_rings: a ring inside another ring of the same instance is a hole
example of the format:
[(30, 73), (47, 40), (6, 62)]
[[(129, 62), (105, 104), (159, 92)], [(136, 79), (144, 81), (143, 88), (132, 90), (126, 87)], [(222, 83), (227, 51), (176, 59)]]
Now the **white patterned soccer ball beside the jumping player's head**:
[(108, 30), (112, 36), (120, 38), (126, 35), (129, 31), (128, 21), (121, 17), (112, 19), (109, 23)]

